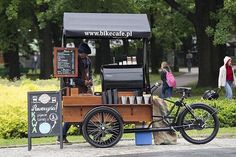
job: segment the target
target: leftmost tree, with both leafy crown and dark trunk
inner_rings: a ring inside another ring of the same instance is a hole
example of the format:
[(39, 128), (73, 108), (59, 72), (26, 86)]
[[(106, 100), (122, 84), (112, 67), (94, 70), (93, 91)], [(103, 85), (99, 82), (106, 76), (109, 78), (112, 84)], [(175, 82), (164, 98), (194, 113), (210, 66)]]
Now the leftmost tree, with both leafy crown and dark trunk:
[(9, 79), (20, 77), (19, 51), (28, 49), (32, 39), (32, 19), (28, 16), (30, 1), (0, 1), (0, 49), (9, 68)]

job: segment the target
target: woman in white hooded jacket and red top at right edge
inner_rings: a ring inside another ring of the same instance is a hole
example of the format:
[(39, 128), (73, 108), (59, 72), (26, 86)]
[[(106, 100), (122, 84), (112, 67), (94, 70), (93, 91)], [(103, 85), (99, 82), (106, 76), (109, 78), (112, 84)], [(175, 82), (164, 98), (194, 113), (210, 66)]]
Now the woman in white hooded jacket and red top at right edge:
[(228, 99), (233, 98), (233, 86), (236, 80), (234, 76), (234, 69), (232, 66), (232, 59), (228, 56), (224, 58), (224, 65), (221, 66), (218, 78), (218, 87), (225, 88), (225, 97)]

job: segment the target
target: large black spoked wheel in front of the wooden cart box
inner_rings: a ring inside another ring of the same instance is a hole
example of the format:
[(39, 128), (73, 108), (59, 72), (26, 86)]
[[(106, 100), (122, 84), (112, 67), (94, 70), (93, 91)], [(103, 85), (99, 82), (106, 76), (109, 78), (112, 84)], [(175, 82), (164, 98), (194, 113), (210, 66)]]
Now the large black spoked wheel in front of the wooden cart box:
[(94, 147), (112, 147), (123, 134), (123, 121), (119, 113), (106, 106), (90, 110), (83, 121), (85, 140)]

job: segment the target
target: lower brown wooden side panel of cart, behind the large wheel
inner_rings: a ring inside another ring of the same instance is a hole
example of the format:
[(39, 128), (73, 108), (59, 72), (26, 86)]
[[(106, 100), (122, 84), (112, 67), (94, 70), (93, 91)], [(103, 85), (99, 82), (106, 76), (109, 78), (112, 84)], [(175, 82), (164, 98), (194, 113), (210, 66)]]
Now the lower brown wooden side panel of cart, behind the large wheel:
[[(83, 122), (84, 116), (88, 111), (96, 106), (101, 105), (81, 105), (81, 106), (64, 106), (63, 120), (65, 122)], [(151, 105), (106, 105), (114, 108), (119, 112), (124, 122), (150, 122), (152, 121)]]

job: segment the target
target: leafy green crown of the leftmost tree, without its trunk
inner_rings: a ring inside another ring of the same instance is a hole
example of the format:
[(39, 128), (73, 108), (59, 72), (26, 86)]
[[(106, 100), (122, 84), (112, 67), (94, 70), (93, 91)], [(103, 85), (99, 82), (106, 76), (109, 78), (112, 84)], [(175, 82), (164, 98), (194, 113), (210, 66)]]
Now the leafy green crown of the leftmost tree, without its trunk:
[[(25, 49), (28, 53), (28, 43), (32, 42), (34, 17), (30, 0), (10, 0), (0, 3), (0, 49), (18, 51)], [(30, 30), (30, 31), (29, 31)]]

